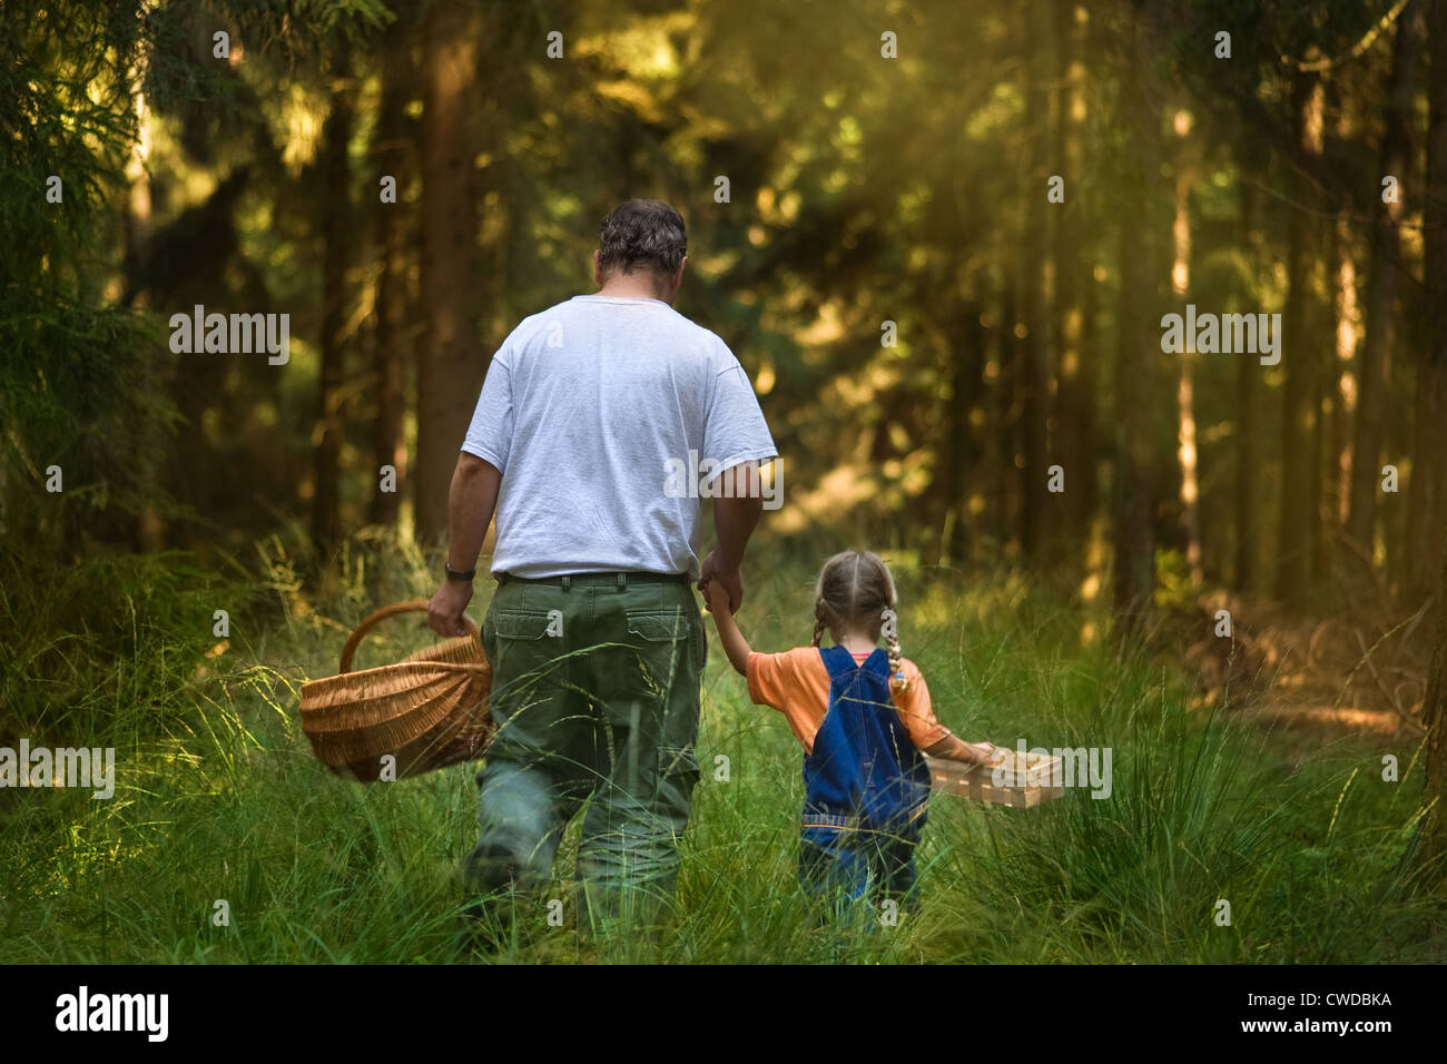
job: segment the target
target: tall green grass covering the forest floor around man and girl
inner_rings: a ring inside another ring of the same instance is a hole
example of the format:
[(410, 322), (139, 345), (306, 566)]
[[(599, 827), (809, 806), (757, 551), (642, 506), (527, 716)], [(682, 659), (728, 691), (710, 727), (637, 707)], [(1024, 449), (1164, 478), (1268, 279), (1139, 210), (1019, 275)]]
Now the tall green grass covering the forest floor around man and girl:
[[(751, 562), (745, 634), (761, 650), (806, 641), (813, 565)], [(473, 769), (339, 780), (297, 715), (301, 682), (336, 670), (360, 617), (431, 594), (428, 559), (356, 540), (311, 592), (278, 540), (233, 578), (178, 554), (56, 573), (0, 554), (0, 640), (13, 650), (0, 743), (113, 746), (117, 767), (110, 801), (0, 790), (0, 961), (1447, 960), (1447, 887), (1412, 853), (1422, 756), (1409, 728), (1285, 727), (1273, 704), (1314, 696), (1288, 698), (1294, 673), (1269, 656), (1243, 657), (1247, 675), (1236, 659), (1213, 672), (1174, 651), (1168, 631), (1121, 653), (1091, 638), (1108, 625), (1098, 607), (1016, 573), (922, 580), (891, 562), (901, 646), (945, 724), (1011, 747), (1022, 735), (1110, 747), (1108, 799), (1074, 789), (1016, 811), (938, 795), (920, 905), (891, 928), (819, 929), (794, 882), (800, 750), (780, 714), (750, 704), (710, 625), (676, 916), (655, 942), (583, 940), (567, 908), (564, 926), (550, 926), (540, 899), (512, 944), (488, 954), (457, 935)], [(489, 594), (479, 582), (475, 617)], [(216, 609), (230, 614), (227, 640), (213, 634)], [(362, 664), (428, 638), (392, 622)], [(1399, 759), (1398, 782), (1382, 779), (1385, 753)], [(576, 843), (577, 822), (548, 898), (570, 898)], [(1217, 924), (1221, 899), (1230, 925)], [(213, 919), (218, 900), (226, 926)]]

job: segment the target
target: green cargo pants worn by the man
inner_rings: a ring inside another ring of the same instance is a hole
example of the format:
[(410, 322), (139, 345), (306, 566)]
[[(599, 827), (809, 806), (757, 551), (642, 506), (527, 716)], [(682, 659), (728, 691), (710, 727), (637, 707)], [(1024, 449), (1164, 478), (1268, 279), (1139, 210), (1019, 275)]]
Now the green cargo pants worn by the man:
[(577, 924), (651, 919), (673, 895), (699, 779), (708, 643), (692, 586), (651, 573), (506, 578), (482, 641), (498, 732), (478, 774), (469, 886), (547, 883), (564, 828), (592, 799)]

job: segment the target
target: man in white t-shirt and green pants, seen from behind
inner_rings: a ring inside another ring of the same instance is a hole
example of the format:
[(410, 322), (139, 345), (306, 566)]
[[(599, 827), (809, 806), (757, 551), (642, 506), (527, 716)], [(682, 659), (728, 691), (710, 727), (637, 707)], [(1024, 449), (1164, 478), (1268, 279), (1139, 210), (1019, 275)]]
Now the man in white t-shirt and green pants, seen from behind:
[[(428, 614), (440, 634), (464, 631), (496, 508), (482, 636), (498, 734), (466, 873), (493, 896), (546, 883), (590, 798), (580, 926), (651, 913), (673, 893), (708, 654), (689, 585), (718, 580), (738, 609), (757, 468), (777, 457), (738, 359), (671, 307), (686, 250), (673, 207), (629, 200), (603, 219), (599, 291), (502, 343), (453, 473), (447, 579)], [(706, 459), (721, 482), (679, 491), (669, 470)], [(699, 495), (715, 497), (718, 534), (702, 566)]]

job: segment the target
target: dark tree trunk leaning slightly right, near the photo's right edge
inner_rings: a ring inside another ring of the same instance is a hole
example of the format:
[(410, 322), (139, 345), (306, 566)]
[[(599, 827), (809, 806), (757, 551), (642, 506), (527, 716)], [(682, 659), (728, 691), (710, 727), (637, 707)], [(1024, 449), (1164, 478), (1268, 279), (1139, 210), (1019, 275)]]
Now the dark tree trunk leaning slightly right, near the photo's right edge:
[[(1382, 135), (1382, 177), (1392, 175), (1404, 187), (1409, 187), (1408, 123), (1412, 117), (1412, 93), (1421, 51), (1418, 14), (1418, 4), (1409, 3), (1396, 22)], [(1382, 482), (1382, 442), (1386, 436), (1391, 405), (1393, 318), (1401, 269), (1398, 263), (1402, 255), (1399, 230), (1402, 204), (1382, 203), (1379, 195), (1375, 198), (1376, 224), (1372, 240), (1372, 275), (1367, 282), (1366, 343), (1362, 347), (1362, 365), (1357, 372), (1351, 499), (1346, 525), (1346, 536), (1366, 557), (1375, 556), (1376, 494)]]

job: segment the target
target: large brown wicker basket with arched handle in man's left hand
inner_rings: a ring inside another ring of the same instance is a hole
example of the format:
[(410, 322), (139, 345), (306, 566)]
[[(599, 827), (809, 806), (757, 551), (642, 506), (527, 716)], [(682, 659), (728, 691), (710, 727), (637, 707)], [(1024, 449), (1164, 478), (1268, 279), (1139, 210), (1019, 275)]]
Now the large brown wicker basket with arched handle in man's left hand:
[(492, 669), (467, 615), (467, 637), (444, 640), (396, 664), (350, 672), (362, 637), (379, 621), (408, 612), (427, 612), (425, 599), (378, 609), (341, 649), (340, 675), (301, 688), (301, 730), (339, 776), (372, 783), (388, 754), (396, 759), (398, 779), (418, 776), (482, 757), (492, 738)]

